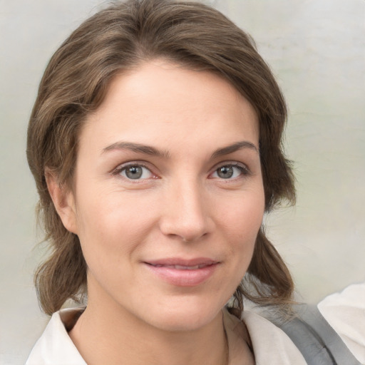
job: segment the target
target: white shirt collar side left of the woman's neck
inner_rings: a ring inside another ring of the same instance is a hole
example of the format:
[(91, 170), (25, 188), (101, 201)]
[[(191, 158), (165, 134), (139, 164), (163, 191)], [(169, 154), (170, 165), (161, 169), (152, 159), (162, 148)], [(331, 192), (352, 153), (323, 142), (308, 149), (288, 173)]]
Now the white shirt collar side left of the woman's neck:
[(26, 365), (86, 365), (67, 331), (82, 310), (62, 309), (54, 313)]

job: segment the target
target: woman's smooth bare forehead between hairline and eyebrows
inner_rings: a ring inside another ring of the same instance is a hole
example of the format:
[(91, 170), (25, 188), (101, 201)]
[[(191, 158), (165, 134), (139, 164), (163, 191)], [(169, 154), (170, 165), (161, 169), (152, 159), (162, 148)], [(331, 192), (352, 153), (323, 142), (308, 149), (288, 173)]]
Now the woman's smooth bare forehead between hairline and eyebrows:
[(118, 138), (164, 148), (247, 138), (257, 144), (258, 134), (254, 108), (224, 78), (156, 60), (115, 76), (81, 142), (93, 136), (99, 148)]

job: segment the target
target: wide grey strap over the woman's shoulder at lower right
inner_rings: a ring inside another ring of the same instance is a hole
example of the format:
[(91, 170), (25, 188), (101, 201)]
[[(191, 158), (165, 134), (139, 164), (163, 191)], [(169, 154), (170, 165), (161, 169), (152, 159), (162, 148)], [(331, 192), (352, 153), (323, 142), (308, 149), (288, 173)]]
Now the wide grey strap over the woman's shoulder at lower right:
[(294, 306), (298, 316), (277, 324), (302, 352), (308, 365), (361, 365), (317, 309)]

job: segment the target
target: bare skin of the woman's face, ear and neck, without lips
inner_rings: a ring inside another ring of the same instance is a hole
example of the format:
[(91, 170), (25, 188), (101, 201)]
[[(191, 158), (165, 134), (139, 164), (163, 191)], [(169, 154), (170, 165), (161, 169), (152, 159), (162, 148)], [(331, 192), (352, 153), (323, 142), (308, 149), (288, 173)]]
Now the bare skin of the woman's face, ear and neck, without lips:
[[(222, 307), (264, 212), (258, 149), (255, 110), (220, 76), (155, 60), (115, 77), (81, 131), (73, 190), (48, 176), (88, 264), (88, 307), (70, 332), (88, 364), (225, 364)], [(181, 286), (146, 264), (166, 257), (217, 264)]]

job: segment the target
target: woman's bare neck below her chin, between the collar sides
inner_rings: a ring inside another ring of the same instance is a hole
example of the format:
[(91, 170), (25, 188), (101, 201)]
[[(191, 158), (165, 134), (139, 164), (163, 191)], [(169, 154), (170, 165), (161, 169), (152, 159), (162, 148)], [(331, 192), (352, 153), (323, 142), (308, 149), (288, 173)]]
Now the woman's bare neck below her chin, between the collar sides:
[(202, 328), (166, 331), (141, 321), (118, 304), (106, 307), (89, 296), (88, 307), (70, 336), (88, 365), (227, 364), (222, 312)]

